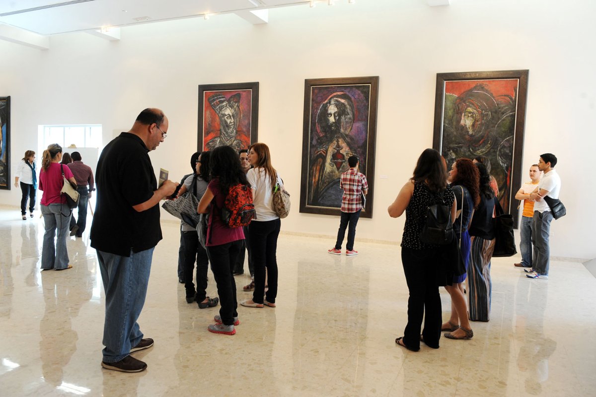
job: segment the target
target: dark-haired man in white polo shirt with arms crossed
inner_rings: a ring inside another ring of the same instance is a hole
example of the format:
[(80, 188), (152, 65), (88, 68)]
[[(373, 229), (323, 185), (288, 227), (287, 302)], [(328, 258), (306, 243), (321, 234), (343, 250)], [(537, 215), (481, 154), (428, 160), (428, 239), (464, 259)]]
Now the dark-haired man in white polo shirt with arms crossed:
[(540, 156), (538, 169), (544, 173), (538, 187), (530, 193), (530, 200), (534, 202), (534, 224), (532, 229), (532, 243), (534, 245), (533, 273), (524, 269), (530, 274), (530, 279), (548, 279), (548, 266), (550, 264), (550, 248), (548, 237), (551, 230), (552, 212), (545, 196), (558, 199), (561, 190), (561, 178), (554, 167), (557, 164), (557, 157), (551, 153)]

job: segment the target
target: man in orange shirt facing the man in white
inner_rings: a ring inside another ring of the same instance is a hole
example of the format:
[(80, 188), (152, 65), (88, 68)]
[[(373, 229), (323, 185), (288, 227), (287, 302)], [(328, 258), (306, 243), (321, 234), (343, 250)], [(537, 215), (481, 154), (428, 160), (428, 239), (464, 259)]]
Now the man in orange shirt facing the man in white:
[(520, 252), (522, 252), (522, 262), (513, 264), (515, 267), (532, 267), (532, 219), (534, 216), (534, 201), (530, 199), (530, 193), (536, 189), (542, 171), (538, 169), (538, 164), (530, 167), (530, 180), (517, 190), (516, 200), (523, 200), (522, 224), (520, 225)]

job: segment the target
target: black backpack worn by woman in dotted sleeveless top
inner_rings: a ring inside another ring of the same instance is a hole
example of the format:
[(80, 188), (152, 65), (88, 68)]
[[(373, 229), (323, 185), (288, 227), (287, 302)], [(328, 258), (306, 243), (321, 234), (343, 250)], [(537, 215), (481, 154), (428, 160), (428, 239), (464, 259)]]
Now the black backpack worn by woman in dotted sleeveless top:
[(427, 244), (445, 245), (454, 238), (453, 224), (451, 223), (451, 208), (443, 205), (443, 190), (439, 196), (432, 196), (426, 211), (426, 222), (420, 232), (420, 241)]

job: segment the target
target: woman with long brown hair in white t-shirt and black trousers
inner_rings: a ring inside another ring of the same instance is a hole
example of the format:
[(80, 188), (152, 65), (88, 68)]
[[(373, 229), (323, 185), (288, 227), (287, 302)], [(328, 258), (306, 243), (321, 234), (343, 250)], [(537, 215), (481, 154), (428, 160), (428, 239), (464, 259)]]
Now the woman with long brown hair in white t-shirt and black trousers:
[[(280, 235), (280, 217), (273, 209), (273, 193), (279, 183), (277, 171), (271, 165), (271, 154), (265, 143), (249, 147), (249, 162), (254, 167), (246, 174), (253, 191), (256, 217), (249, 225), (249, 244), (254, 263), (253, 299), (241, 302), (246, 307), (275, 307), (277, 297), (277, 237)], [(265, 268), (268, 290), (265, 294)], [(263, 299), (263, 295), (265, 299)]]

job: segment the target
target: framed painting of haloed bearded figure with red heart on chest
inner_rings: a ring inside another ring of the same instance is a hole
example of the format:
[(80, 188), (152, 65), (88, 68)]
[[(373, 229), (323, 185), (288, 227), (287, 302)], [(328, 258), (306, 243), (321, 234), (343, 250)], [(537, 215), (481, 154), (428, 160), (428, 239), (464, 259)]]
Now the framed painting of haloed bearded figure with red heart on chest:
[(368, 182), (361, 217), (373, 217), (377, 98), (378, 76), (305, 80), (300, 212), (340, 215), (340, 176), (356, 155)]

